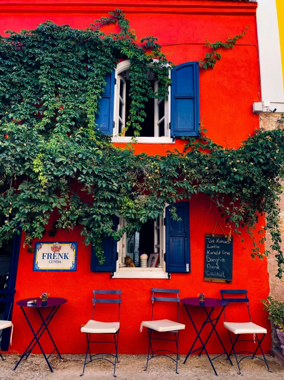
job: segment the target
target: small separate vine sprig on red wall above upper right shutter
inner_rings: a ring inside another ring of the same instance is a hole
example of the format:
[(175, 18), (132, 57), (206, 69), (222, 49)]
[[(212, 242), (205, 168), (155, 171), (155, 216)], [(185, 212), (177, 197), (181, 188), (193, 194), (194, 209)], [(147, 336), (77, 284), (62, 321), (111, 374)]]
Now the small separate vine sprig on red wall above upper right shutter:
[[(222, 41), (216, 41), (215, 43), (211, 43), (208, 40), (206, 40), (205, 46), (210, 46), (213, 50), (211, 52), (205, 53), (205, 58), (203, 61), (198, 61), (200, 67), (208, 69), (208, 67), (213, 68), (217, 62), (217, 59), (221, 59), (220, 53), (218, 53), (217, 50), (220, 50), (220, 48), (223, 49), (233, 49), (235, 46), (237, 40), (244, 37), (244, 35), (247, 33), (249, 29), (249, 25), (245, 28), (245, 30), (237, 35), (235, 35), (233, 38), (229, 38), (226, 40), (226, 42)], [(217, 59), (216, 59), (216, 58)]]

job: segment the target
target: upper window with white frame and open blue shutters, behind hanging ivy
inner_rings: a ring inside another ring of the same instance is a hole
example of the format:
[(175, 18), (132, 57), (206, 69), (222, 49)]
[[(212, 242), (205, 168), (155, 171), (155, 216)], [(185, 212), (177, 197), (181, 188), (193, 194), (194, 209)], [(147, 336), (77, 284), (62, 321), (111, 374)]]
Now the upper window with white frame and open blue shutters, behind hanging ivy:
[[(120, 62), (106, 78), (106, 87), (99, 100), (96, 115), (97, 128), (118, 136), (127, 142), (134, 136), (130, 127), (126, 130), (131, 98), (129, 81), (130, 61)], [(169, 100), (149, 98), (145, 103), (147, 117), (141, 122), (138, 142), (163, 142), (175, 137), (198, 136), (199, 134), (199, 74), (198, 62), (187, 62), (171, 70), (172, 85)], [(153, 92), (158, 91), (159, 82), (149, 68), (148, 80)], [(148, 140), (147, 140), (148, 139)]]

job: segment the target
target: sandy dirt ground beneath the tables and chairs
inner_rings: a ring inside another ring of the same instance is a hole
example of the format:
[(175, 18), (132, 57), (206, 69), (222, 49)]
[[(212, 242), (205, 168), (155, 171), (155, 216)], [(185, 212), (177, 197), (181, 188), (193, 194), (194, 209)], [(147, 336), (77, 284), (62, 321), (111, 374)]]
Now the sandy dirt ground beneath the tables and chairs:
[[(32, 380), (32, 379), (56, 379), (56, 380), (79, 380), (82, 379), (111, 379), (113, 367), (107, 361), (96, 360), (86, 367), (84, 377), (79, 377), (83, 370), (83, 355), (63, 355), (63, 361), (59, 361), (53, 355), (50, 363), (54, 373), (51, 373), (42, 355), (31, 355), (27, 361), (23, 361), (14, 372), (12, 369), (17, 362), (18, 355), (5, 355), (6, 360), (0, 360), (0, 379), (1, 380)], [(267, 355), (270, 369), (269, 373), (263, 363), (257, 359), (245, 359), (241, 362), (242, 374), (237, 374), (237, 366), (234, 366), (222, 357), (214, 360), (218, 378), (226, 379), (284, 379), (284, 367), (275, 358)], [(179, 374), (175, 373), (172, 360), (165, 357), (154, 358), (149, 362), (148, 371), (145, 372), (145, 355), (120, 355), (120, 363), (116, 367), (117, 380), (212, 380), (215, 378), (214, 372), (205, 355), (200, 358), (191, 356), (187, 363), (183, 365), (184, 356), (179, 360)]]

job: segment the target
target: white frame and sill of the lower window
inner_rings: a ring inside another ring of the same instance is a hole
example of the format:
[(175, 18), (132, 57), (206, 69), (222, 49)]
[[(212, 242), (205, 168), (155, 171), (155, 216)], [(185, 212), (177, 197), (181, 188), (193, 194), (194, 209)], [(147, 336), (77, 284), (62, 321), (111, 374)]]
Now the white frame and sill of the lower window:
[[(165, 257), (165, 247), (166, 247), (166, 226), (164, 223), (166, 216), (166, 210), (164, 210), (163, 216), (160, 218), (160, 264), (161, 268), (127, 268), (122, 267), (123, 262), (123, 253), (125, 252), (126, 247), (126, 234), (117, 242), (117, 252), (118, 260), (116, 261), (116, 272), (114, 272), (112, 278), (153, 278), (153, 279), (168, 279), (168, 273), (166, 272), (166, 262), (164, 261)], [(123, 227), (124, 220), (119, 219), (118, 229)], [(154, 228), (156, 231), (156, 222), (154, 222)], [(156, 233), (154, 234), (154, 245), (157, 245)], [(157, 248), (157, 247), (156, 247)]]

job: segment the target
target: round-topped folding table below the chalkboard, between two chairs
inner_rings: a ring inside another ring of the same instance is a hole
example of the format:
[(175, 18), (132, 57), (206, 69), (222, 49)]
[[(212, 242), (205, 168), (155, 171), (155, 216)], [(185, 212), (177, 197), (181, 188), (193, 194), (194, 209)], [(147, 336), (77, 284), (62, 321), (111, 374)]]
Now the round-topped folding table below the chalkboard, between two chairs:
[[(232, 361), (231, 361), (231, 359), (230, 359), (230, 356), (228, 355), (228, 353), (227, 353), (227, 351), (226, 351), (226, 348), (224, 347), (224, 345), (223, 345), (223, 343), (222, 343), (222, 341), (221, 341), (221, 338), (219, 337), (219, 334), (218, 334), (217, 331), (216, 331), (216, 324), (218, 323), (218, 321), (219, 321), (219, 319), (220, 319), (220, 316), (221, 316), (222, 313), (224, 312), (224, 309), (225, 309), (225, 307), (229, 304), (229, 302), (226, 301), (225, 299), (219, 299), (219, 298), (205, 298), (205, 301), (204, 301), (204, 302), (200, 302), (198, 297), (183, 298), (183, 299), (180, 300), (180, 302), (182, 302), (182, 303), (184, 304), (184, 306), (185, 306), (185, 308), (186, 308), (186, 311), (187, 311), (187, 314), (188, 314), (188, 316), (189, 316), (189, 318), (190, 318), (190, 320), (191, 320), (191, 323), (192, 323), (192, 325), (193, 325), (193, 327), (194, 327), (194, 330), (196, 331), (196, 334), (197, 334), (197, 336), (196, 336), (196, 338), (195, 338), (195, 340), (194, 340), (194, 342), (193, 342), (193, 345), (191, 346), (191, 349), (189, 350), (189, 353), (187, 354), (187, 357), (186, 357), (186, 359), (185, 359), (185, 361), (184, 361), (184, 364), (186, 364), (186, 361), (187, 361), (189, 355), (192, 354), (193, 352), (196, 352), (196, 351), (198, 351), (198, 350), (201, 350), (201, 351), (199, 352), (199, 354), (198, 354), (198, 356), (200, 356), (200, 355), (202, 354), (202, 352), (205, 351), (205, 353), (206, 353), (206, 355), (207, 355), (207, 357), (208, 357), (208, 359), (209, 359), (209, 361), (210, 361), (210, 364), (211, 364), (211, 366), (212, 366), (212, 368), (213, 368), (213, 370), (214, 370), (214, 372), (215, 372), (215, 375), (218, 376), (218, 374), (217, 374), (217, 372), (216, 372), (216, 369), (215, 369), (215, 367), (214, 367), (214, 365), (213, 365), (213, 363), (212, 363), (212, 361), (213, 361), (214, 359), (216, 359), (217, 357), (219, 357), (219, 356), (225, 354), (225, 355), (227, 356), (227, 359), (230, 361), (231, 365), (233, 365), (233, 363), (232, 363)], [(200, 329), (199, 331), (198, 331), (197, 328), (196, 328), (196, 325), (195, 325), (195, 323), (194, 323), (194, 321), (193, 321), (193, 318), (192, 318), (192, 316), (191, 316), (191, 314), (190, 314), (190, 311), (189, 311), (189, 307), (188, 307), (188, 306), (203, 307), (203, 309), (204, 309), (204, 311), (205, 311), (205, 313), (206, 313), (206, 319), (205, 319), (205, 321), (202, 323), (201, 329)], [(212, 313), (213, 313), (215, 307), (220, 307), (221, 309), (220, 309), (219, 314), (217, 315), (216, 318), (211, 318), (211, 315), (212, 315)], [(207, 308), (208, 308), (209, 310), (207, 310)], [(211, 308), (211, 309), (210, 309), (210, 308)], [(200, 334), (201, 334), (202, 330), (204, 329), (204, 327), (206, 326), (207, 323), (210, 323), (210, 324), (211, 324), (212, 329), (210, 330), (210, 332), (209, 332), (209, 334), (208, 334), (208, 336), (207, 336), (207, 338), (206, 338), (206, 340), (205, 340), (205, 342), (204, 342), (204, 341), (202, 340)], [(215, 357), (213, 357), (213, 358), (210, 358), (210, 356), (209, 356), (209, 354), (208, 354), (208, 351), (207, 351), (207, 349), (206, 349), (206, 345), (207, 345), (207, 343), (208, 343), (208, 341), (209, 341), (209, 339), (210, 339), (210, 337), (211, 337), (213, 331), (214, 331), (215, 334), (217, 335), (217, 338), (219, 339), (219, 342), (221, 343), (221, 346), (222, 346), (224, 352), (222, 352), (221, 354), (219, 354), (219, 355), (217, 355), (217, 356), (215, 356)], [(198, 347), (198, 348), (194, 349), (194, 346), (195, 346), (195, 343), (197, 342), (197, 339), (200, 340), (201, 347)]]

